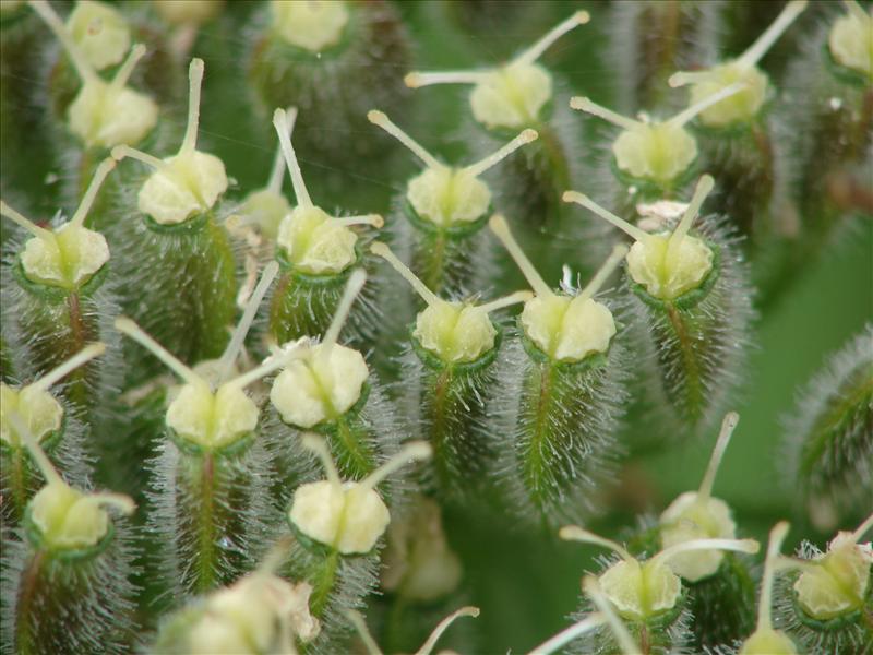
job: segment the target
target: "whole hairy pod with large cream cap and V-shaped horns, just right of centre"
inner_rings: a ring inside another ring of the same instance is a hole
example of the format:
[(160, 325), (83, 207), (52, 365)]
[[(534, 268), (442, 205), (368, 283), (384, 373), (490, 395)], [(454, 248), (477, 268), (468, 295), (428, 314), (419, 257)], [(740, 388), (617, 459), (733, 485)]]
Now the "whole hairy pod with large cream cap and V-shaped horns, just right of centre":
[(489, 226), (536, 294), (498, 357), (489, 415), (505, 441), (495, 475), (522, 521), (576, 521), (595, 510), (591, 491), (614, 472), (620, 451), (613, 434), (627, 397), (630, 360), (620, 325), (594, 298), (627, 247), (615, 246), (584, 288), (557, 293), (502, 216), (492, 216)]

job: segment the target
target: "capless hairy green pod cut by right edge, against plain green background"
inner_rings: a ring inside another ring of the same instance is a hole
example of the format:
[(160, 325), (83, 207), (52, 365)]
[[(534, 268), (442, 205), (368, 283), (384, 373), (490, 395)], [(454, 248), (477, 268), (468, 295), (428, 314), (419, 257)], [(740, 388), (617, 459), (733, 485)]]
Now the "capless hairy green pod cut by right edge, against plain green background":
[(814, 524), (861, 515), (873, 497), (873, 324), (801, 389), (784, 418), (782, 472)]

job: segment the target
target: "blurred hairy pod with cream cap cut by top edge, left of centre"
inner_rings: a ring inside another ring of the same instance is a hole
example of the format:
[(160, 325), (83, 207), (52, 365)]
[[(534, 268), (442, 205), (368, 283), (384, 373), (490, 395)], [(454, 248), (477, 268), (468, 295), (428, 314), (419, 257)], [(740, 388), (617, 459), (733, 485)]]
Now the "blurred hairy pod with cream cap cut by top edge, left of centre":
[[(272, 2), (251, 33), (248, 80), (261, 116), (299, 107), (298, 140), (332, 169), (344, 170), (350, 156), (385, 152), (385, 142), (367, 129), (367, 110), (409, 105), (397, 71), (408, 68), (410, 45), (390, 3)], [(338, 191), (347, 178), (335, 177), (325, 182)]]

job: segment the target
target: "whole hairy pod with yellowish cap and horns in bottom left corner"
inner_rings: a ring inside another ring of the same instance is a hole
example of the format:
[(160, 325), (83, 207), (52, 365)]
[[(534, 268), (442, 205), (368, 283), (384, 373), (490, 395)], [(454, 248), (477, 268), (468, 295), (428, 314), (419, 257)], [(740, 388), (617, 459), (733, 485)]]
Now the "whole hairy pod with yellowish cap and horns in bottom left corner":
[(28, 502), (24, 524), (4, 529), (0, 648), (129, 652), (139, 590), (131, 583), (136, 550), (124, 515), (135, 504), (120, 493), (71, 487), (24, 417), (12, 410), (8, 418), (46, 485)]

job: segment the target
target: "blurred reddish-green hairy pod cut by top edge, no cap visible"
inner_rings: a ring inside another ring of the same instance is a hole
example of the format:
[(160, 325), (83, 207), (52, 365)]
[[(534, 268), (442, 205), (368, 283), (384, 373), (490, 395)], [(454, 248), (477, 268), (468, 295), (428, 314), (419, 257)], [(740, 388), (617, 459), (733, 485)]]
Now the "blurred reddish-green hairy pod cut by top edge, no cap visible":
[(667, 79), (713, 58), (719, 15), (710, 2), (618, 2), (610, 8), (609, 61), (624, 111), (675, 109)]

